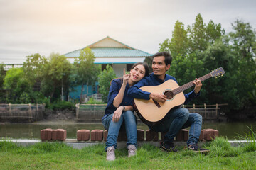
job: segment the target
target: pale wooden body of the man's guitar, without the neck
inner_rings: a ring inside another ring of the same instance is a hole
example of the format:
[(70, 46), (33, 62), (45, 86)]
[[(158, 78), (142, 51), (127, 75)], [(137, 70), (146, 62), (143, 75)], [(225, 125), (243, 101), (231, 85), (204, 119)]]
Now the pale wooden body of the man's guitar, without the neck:
[[(154, 125), (159, 123), (166, 114), (171, 110), (171, 108), (175, 108), (176, 106), (180, 106), (185, 102), (185, 96), (183, 92), (176, 95), (169, 95), (170, 91), (178, 88), (178, 84), (174, 80), (167, 80), (163, 84), (159, 86), (143, 86), (140, 89), (143, 91), (148, 91), (156, 94), (165, 94), (167, 96), (167, 101), (164, 103), (157, 103), (156, 101), (144, 100), (134, 98), (134, 103), (137, 107), (137, 115), (142, 120), (142, 122), (147, 125)], [(168, 93), (169, 92), (169, 93)]]

